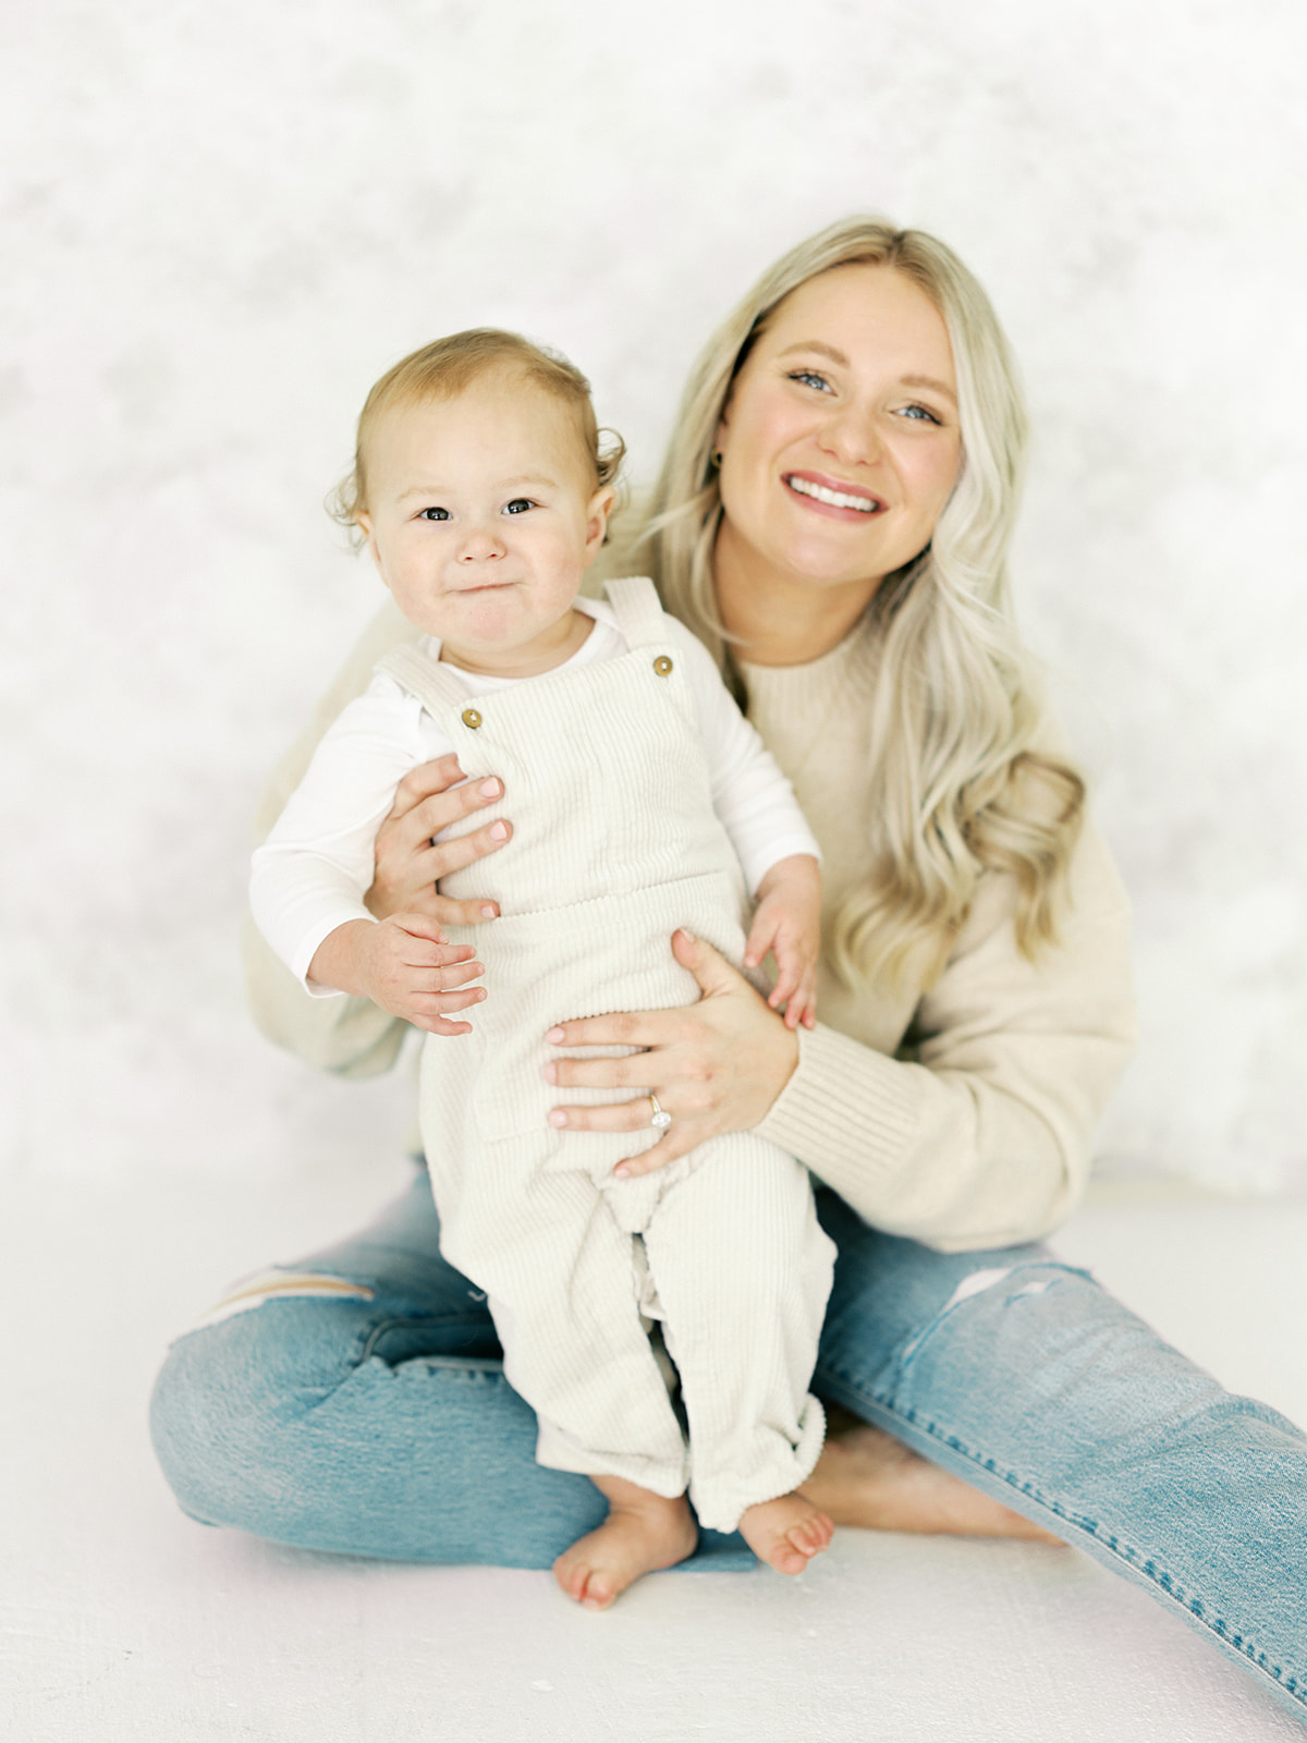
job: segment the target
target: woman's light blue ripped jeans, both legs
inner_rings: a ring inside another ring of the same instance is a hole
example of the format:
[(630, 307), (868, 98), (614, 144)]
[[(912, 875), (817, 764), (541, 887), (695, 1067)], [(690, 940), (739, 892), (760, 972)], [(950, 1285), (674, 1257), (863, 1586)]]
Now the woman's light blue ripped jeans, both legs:
[[(838, 1246), (814, 1389), (1143, 1586), (1307, 1722), (1307, 1436), (1042, 1246)], [(369, 1229), (173, 1346), (155, 1450), (193, 1518), (403, 1562), (549, 1567), (605, 1511), (535, 1462), (425, 1173)], [(301, 1293), (268, 1293), (284, 1283)], [(699, 1560), (749, 1565), (739, 1537)]]

